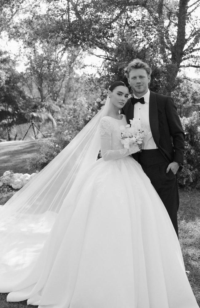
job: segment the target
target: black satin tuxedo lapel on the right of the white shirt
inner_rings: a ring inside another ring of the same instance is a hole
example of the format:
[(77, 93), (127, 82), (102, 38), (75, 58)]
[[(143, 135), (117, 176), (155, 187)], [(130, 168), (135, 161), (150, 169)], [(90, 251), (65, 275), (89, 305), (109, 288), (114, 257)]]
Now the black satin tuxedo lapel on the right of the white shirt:
[(160, 133), (158, 129), (158, 107), (156, 102), (156, 95), (152, 91), (150, 91), (149, 98), (149, 123), (154, 142), (158, 146), (160, 140)]

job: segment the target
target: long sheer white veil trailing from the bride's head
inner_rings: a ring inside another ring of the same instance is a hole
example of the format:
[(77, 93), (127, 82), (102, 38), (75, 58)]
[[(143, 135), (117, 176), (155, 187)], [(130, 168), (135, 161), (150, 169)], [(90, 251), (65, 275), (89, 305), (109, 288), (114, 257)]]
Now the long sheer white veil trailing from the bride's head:
[(10, 292), (13, 277), (34, 264), (70, 188), (97, 160), (98, 124), (108, 107), (109, 97), (66, 148), (1, 208), (0, 292)]

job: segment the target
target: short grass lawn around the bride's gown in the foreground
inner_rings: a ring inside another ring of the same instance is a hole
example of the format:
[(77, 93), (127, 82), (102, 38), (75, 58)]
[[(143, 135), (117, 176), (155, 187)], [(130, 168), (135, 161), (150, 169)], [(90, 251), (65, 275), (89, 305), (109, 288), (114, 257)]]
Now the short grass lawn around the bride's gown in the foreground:
[[(13, 193), (3, 192), (4, 201)], [(0, 202), (0, 204), (3, 204)], [(200, 190), (180, 189), (180, 208), (178, 211), (180, 245), (188, 279), (200, 306)], [(0, 294), (0, 308), (25, 308), (26, 301), (8, 303), (7, 294)], [(37, 307), (30, 306), (29, 307)], [(174, 307), (175, 308), (175, 307)], [(190, 307), (188, 307), (190, 308)]]

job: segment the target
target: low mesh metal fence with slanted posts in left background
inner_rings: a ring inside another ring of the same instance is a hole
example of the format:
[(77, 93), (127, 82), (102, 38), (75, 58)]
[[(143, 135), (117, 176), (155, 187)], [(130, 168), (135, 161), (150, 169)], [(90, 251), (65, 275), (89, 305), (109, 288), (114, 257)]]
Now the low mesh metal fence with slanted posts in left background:
[[(0, 128), (0, 138), (3, 140), (34, 140), (45, 137), (40, 129), (34, 124), (30, 123), (14, 124), (6, 128)], [(46, 138), (46, 137), (45, 137)]]

